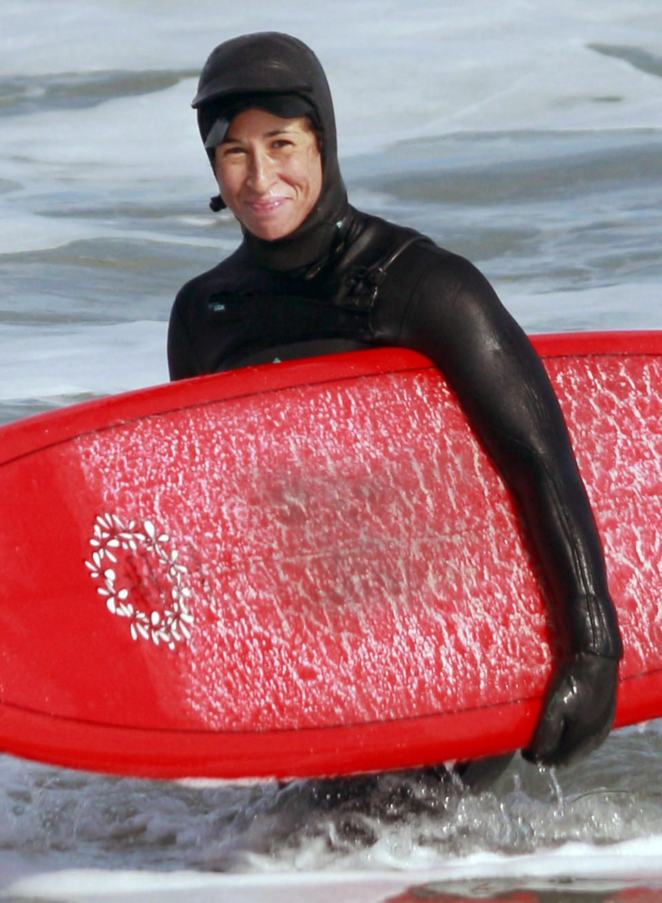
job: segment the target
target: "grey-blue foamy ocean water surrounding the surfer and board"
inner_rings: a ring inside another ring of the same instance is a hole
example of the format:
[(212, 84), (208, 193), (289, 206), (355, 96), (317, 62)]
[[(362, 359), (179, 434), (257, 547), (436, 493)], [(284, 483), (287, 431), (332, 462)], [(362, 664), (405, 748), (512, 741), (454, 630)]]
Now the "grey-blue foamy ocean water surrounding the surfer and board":
[[(167, 379), (172, 298), (238, 236), (197, 72), (262, 29), (321, 57), (357, 206), (469, 256), (530, 332), (662, 329), (658, 0), (0, 0), (0, 423)], [(5, 756), (0, 898), (652, 900), (660, 778), (657, 721), (473, 795)]]

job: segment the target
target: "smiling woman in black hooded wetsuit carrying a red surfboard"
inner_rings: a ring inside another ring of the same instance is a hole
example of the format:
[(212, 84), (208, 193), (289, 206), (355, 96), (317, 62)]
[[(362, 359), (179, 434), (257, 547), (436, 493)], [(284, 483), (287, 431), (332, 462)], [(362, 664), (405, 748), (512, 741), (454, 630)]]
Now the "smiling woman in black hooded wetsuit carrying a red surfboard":
[(601, 544), (562, 414), (526, 336), (474, 266), (348, 205), (322, 67), (285, 34), (220, 44), (200, 135), (243, 240), (184, 285), (171, 377), (399, 345), (442, 369), (525, 517), (568, 648), (527, 756), (558, 764), (611, 729), (622, 656)]

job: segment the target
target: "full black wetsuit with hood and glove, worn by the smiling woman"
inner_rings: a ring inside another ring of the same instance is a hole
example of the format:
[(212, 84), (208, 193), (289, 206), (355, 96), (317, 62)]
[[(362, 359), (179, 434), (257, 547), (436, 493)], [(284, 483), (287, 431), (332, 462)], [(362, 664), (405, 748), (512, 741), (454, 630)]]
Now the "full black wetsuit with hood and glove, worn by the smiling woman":
[[(219, 84), (226, 70), (234, 72), (233, 53), (241, 51), (236, 59), (243, 61), (255, 44), (255, 66), (270, 52), (275, 61), (289, 53), (293, 71), (293, 47), (304, 53), (300, 42), (271, 33), (236, 43), (220, 45), (200, 77), (203, 137), (218, 113), (213, 105), (223, 100)], [(290, 237), (266, 242), (244, 230), (234, 254), (184, 285), (170, 323), (171, 377), (375, 345), (431, 358), (517, 498), (567, 627), (567, 662), (535, 749), (541, 760), (561, 761), (609, 729), (622, 655), (601, 543), (563, 416), (535, 350), (473, 265), (412, 229), (348, 206), (331, 98), (312, 65), (306, 57), (313, 85), (305, 96), (322, 134), (318, 205)]]

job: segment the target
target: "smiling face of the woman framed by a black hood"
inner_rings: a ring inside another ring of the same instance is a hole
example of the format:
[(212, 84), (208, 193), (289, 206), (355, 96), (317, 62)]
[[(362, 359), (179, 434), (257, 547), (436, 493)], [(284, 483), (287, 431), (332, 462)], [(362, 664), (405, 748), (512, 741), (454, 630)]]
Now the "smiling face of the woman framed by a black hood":
[(228, 209), (266, 241), (301, 226), (322, 191), (322, 157), (305, 117), (244, 110), (214, 150), (214, 171)]

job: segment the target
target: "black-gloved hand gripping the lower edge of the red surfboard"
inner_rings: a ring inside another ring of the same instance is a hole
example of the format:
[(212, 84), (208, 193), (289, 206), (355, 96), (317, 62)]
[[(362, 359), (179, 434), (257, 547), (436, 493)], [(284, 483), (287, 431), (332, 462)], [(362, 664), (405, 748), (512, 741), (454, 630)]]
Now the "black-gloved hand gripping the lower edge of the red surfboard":
[(614, 721), (618, 672), (617, 659), (573, 656), (555, 676), (525, 759), (564, 765), (600, 746)]

